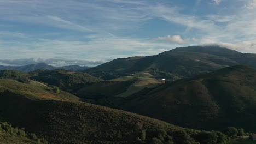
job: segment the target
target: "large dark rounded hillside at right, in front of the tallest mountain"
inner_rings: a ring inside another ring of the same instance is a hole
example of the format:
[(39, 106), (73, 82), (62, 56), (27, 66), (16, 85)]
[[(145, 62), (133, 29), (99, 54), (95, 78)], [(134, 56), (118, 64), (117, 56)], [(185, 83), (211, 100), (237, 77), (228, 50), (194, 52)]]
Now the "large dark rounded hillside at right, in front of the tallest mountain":
[(196, 129), (234, 126), (256, 132), (256, 70), (234, 66), (144, 89), (123, 109)]

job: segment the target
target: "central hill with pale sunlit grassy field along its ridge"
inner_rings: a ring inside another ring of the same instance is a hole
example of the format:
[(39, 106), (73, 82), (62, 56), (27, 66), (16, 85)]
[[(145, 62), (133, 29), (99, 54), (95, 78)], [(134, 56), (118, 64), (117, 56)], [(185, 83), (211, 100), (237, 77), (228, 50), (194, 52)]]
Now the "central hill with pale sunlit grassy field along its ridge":
[(109, 81), (101, 81), (85, 85), (75, 92), (90, 103), (118, 108), (124, 103), (124, 98), (141, 91), (144, 88), (153, 88), (165, 81), (148, 77), (124, 76)]

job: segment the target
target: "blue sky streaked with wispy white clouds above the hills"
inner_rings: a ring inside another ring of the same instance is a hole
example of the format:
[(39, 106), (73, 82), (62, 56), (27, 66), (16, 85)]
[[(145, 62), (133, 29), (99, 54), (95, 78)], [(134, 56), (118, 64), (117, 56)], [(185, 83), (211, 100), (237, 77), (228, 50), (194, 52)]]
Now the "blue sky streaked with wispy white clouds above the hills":
[(256, 53), (256, 0), (0, 0), (0, 64), (97, 65), (176, 47)]

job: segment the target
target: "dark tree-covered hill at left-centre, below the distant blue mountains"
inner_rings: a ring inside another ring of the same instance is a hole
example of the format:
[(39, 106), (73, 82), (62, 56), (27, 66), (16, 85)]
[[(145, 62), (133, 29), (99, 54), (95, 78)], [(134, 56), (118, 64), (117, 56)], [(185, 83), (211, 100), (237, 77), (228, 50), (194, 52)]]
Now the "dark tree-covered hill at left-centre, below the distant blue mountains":
[(64, 91), (74, 92), (84, 87), (86, 83), (94, 83), (101, 81), (89, 74), (74, 72), (64, 69), (57, 70), (36, 70), (30, 73), (30, 79), (48, 83), (60, 87)]

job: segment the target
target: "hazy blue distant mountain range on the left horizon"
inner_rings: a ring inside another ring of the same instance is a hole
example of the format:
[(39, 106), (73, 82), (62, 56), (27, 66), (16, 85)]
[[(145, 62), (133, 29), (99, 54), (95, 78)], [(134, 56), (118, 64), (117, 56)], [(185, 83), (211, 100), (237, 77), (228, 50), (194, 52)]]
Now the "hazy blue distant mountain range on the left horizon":
[(63, 67), (53, 67), (51, 65), (48, 65), (46, 63), (38, 63), (38, 64), (29, 64), (25, 66), (3, 66), (0, 65), (0, 70), (19, 70), (22, 72), (30, 72), (38, 69), (45, 69), (45, 70), (54, 70), (54, 69), (66, 69), (66, 70), (72, 70), (72, 71), (79, 71), (79, 70), (85, 70), (92, 67), (81, 67), (79, 65), (69, 65), (69, 66), (63, 66)]

